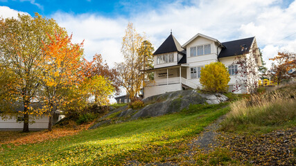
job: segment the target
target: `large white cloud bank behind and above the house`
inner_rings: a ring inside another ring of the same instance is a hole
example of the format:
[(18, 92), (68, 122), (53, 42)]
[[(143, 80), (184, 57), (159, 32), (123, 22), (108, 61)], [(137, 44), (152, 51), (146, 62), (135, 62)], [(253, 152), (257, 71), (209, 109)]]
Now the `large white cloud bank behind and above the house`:
[[(282, 1), (183, 1), (133, 13), (130, 17), (103, 17), (96, 14), (74, 15), (57, 12), (51, 15), (58, 24), (73, 33), (74, 42), (85, 39), (85, 55), (91, 59), (101, 53), (110, 66), (120, 62), (121, 39), (131, 21), (137, 32), (158, 48), (171, 29), (180, 44), (202, 33), (227, 42), (256, 36), (263, 59), (277, 55), (279, 50), (296, 51), (296, 1), (282, 7)], [(0, 15), (3, 12), (0, 12)], [(287, 37), (284, 39), (284, 37)], [(268, 62), (270, 64), (270, 62)]]

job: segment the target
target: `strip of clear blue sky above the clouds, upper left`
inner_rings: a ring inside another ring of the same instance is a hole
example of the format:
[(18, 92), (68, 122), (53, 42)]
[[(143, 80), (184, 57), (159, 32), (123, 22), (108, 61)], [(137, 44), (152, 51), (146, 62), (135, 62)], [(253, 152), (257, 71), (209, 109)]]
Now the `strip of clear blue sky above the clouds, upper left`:
[[(137, 13), (143, 10), (151, 10), (153, 8), (161, 8), (170, 2), (171, 1), (164, 0), (0, 0), (0, 5), (28, 12), (30, 15), (34, 15), (34, 12), (38, 12), (40, 15), (45, 16), (53, 15), (55, 12), (67, 12), (76, 15), (83, 13), (96, 13), (106, 17), (118, 17), (119, 15), (129, 17), (132, 13)], [(189, 4), (189, 1), (182, 1), (182, 4)]]

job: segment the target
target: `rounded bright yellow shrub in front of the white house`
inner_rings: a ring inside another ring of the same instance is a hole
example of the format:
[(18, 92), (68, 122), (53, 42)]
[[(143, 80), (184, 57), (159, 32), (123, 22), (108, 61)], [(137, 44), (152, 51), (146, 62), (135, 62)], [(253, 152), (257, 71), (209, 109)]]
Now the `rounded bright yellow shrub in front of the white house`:
[(200, 71), (200, 83), (206, 91), (227, 91), (229, 81), (227, 68), (221, 62), (207, 64)]

